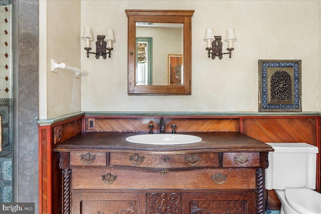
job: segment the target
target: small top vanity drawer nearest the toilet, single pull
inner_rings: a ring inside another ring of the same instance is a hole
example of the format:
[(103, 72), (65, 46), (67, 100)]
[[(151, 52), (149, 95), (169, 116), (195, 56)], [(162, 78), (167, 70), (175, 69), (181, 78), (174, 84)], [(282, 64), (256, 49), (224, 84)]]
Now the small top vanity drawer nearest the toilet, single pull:
[(225, 152), (224, 167), (256, 167), (260, 166), (259, 152)]

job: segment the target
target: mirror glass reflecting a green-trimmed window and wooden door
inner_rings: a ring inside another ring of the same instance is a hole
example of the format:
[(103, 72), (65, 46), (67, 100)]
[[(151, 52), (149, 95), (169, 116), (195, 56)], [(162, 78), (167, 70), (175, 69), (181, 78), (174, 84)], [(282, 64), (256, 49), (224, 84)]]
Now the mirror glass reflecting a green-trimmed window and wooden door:
[(136, 22), (135, 85), (184, 85), (184, 24)]

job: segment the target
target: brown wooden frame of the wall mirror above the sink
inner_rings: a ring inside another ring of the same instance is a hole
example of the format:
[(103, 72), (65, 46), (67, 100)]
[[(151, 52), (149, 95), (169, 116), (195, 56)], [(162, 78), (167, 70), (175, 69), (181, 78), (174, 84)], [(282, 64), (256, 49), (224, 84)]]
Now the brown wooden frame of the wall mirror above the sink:
[[(194, 10), (125, 10), (125, 12), (128, 17), (128, 95), (191, 95), (191, 21)], [(184, 85), (135, 85), (136, 22), (184, 24)]]

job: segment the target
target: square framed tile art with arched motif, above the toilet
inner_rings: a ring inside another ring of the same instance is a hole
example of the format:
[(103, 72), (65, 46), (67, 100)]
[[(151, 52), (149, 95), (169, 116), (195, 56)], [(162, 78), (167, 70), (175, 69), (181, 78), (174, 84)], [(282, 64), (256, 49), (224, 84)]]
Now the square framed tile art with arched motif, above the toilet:
[(259, 112), (301, 112), (301, 60), (259, 60)]

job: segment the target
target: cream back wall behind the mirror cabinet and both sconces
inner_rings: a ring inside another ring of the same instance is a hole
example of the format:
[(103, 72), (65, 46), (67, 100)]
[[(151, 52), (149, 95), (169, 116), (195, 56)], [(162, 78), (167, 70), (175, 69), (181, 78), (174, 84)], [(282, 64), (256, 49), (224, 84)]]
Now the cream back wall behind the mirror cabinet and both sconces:
[[(192, 95), (127, 95), (126, 9), (195, 10)], [(81, 1), (81, 28), (91, 27), (94, 37), (111, 28), (115, 36), (111, 59), (87, 59), (81, 52), (82, 68), (88, 70), (82, 78), (81, 110), (256, 112), (258, 60), (301, 59), (302, 110), (319, 111), (319, 12), (318, 1)], [(207, 28), (223, 38), (226, 29), (235, 29), (231, 59), (207, 58)]]

